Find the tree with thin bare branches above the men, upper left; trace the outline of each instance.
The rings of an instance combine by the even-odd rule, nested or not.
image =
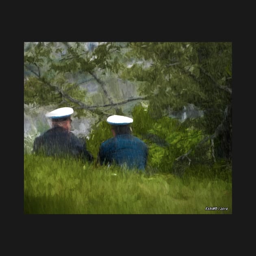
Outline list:
[[[78,116],[90,112],[100,117],[107,115],[102,108],[116,107],[140,98],[114,103],[101,79],[108,70],[117,72],[122,66],[119,43],[101,43],[97,47],[86,47],[84,43],[39,42],[24,44],[24,103],[40,105],[56,104],[72,106]],[[95,79],[104,93],[105,104],[85,104],[86,91],[68,78],[78,73],[86,74],[87,80]]]

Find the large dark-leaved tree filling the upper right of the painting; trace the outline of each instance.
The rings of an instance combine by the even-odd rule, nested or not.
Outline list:
[[[194,104],[204,111],[200,121],[188,119],[184,126],[202,129],[214,159],[231,161],[232,142],[232,44],[230,42],[131,42],[127,56],[152,65],[134,64],[121,77],[143,81],[141,93],[150,100],[149,113],[160,119],[170,111]],[[191,150],[177,160],[188,158]],[[189,161],[190,163],[190,161]]]

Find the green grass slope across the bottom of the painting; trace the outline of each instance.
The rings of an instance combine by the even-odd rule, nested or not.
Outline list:
[[[231,171],[208,173],[194,168],[179,178],[24,155],[24,213],[231,214]],[[206,206],[228,210],[206,211]]]

